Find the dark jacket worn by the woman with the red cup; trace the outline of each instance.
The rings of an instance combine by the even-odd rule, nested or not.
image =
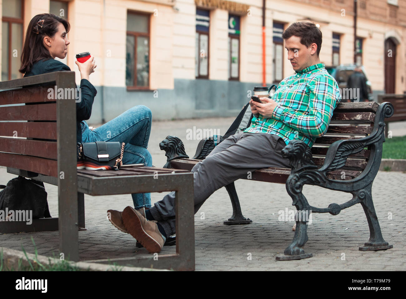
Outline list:
[[[32,65],[31,71],[25,73],[24,77],[41,75],[57,71],[70,71],[71,69],[65,63],[55,59],[40,60]],[[76,103],[76,140],[82,142],[82,129],[80,122],[88,120],[92,113],[93,100],[97,94],[95,87],[86,79],[80,80],[80,92],[82,99]]]

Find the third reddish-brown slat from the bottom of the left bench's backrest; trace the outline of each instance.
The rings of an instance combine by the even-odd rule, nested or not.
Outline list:
[[[56,140],[56,122],[0,122],[0,136]]]

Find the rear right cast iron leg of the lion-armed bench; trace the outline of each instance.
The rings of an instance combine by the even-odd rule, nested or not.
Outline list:
[[[376,216],[374,203],[372,202],[371,188],[372,183],[364,189],[354,192],[354,195],[361,199],[361,205],[367,216],[369,226],[369,240],[364,244],[365,246],[359,247],[359,250],[385,250],[393,248],[393,245],[389,245],[389,243],[382,238],[378,217]]]

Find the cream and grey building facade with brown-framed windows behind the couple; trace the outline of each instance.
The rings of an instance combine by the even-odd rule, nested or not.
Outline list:
[[[21,77],[26,28],[44,12],[71,24],[64,59],[71,70],[77,53],[96,59],[91,123],[135,105],[154,119],[235,116],[262,85],[263,63],[268,86],[294,73],[281,36],[297,21],[320,26],[322,63],[354,61],[353,0],[265,2],[263,47],[262,0],[0,0],[1,79]],[[356,60],[374,95],[404,93],[406,0],[358,0],[357,9]]]

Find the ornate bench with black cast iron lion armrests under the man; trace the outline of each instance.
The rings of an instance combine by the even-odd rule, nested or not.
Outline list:
[[[384,118],[392,115],[391,103],[380,105],[375,102],[340,103],[333,113],[326,134],[317,138],[311,149],[300,140],[289,142],[283,149],[282,153],[284,157],[289,158],[292,169],[264,168],[253,172],[251,178],[244,179],[286,184],[287,192],[293,200],[292,205],[305,213],[337,215],[342,209],[361,203],[367,216],[370,238],[359,250],[392,248],[392,245],[382,238],[371,196],[371,186],[379,169],[382,142],[385,140]],[[167,139],[172,137],[174,136],[168,136]],[[175,148],[177,150],[171,152],[166,150],[168,157],[166,166],[190,171],[201,161],[188,159],[183,143],[180,142]],[[195,157],[202,157],[201,153],[204,153],[202,157],[204,159],[213,148],[213,140],[206,140]],[[304,184],[349,192],[353,194],[353,198],[342,204],[331,203],[324,208],[313,207],[302,194]],[[251,219],[242,216],[234,183],[227,185],[226,189],[233,206],[233,215],[224,224],[251,223]],[[276,257],[276,260],[312,256],[303,250],[308,240],[306,223],[307,221],[296,221],[292,244],[285,249],[285,255]]]

